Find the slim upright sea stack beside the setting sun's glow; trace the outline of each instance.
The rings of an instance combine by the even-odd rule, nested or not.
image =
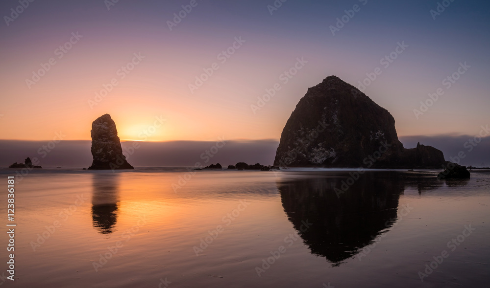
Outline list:
[[[123,155],[116,123],[111,115],[105,114],[92,122],[92,156],[94,161],[89,170],[134,169]]]

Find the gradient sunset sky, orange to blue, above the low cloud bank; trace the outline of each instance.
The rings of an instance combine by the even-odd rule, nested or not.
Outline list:
[[[168,22],[191,0],[119,0],[109,9],[107,2],[38,0],[23,9],[18,0],[1,2],[0,139],[62,132],[64,140],[88,140],[92,121],[105,113],[123,140],[143,140],[156,117],[166,121],[150,141],[279,139],[309,87],[330,75],[358,87],[377,67],[382,73],[364,92],[392,113],[399,136],[476,135],[490,124],[488,1],[439,1],[450,5],[434,19],[437,0],[287,0],[272,13],[273,0],[196,0],[172,30]],[[333,35],[330,26],[356,4],[360,10]],[[23,11],[14,19],[12,8]],[[66,53],[57,50],[76,41],[72,33],[83,37]],[[240,37],[245,43],[222,63],[221,51]],[[380,64],[397,43],[408,47],[390,66]],[[118,70],[134,53],[144,58],[121,79]],[[50,58],[49,71],[26,84]],[[284,83],[281,74],[297,58],[307,63]],[[465,62],[465,74],[443,85]],[[219,68],[191,92],[213,63]],[[91,107],[114,78],[117,86]],[[275,83],[282,88],[254,113],[250,105]],[[417,119],[414,109],[438,88],[444,94]]]

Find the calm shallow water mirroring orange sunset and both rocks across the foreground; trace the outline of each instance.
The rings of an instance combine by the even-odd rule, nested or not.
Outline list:
[[[436,174],[368,172],[337,195],[349,171],[203,171],[186,183],[168,169],[32,171],[16,183],[14,286],[489,287],[490,173]]]

